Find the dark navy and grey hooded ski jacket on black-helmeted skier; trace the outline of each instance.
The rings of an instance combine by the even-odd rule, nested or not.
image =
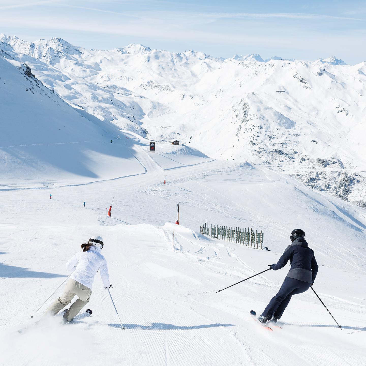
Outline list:
[[[292,244],[285,249],[279,261],[276,264],[273,264],[271,268],[275,271],[281,269],[289,260],[291,269],[287,273],[287,277],[314,283],[319,267],[315,260],[313,250],[307,246],[306,240],[301,236],[300,238],[295,239]]]

